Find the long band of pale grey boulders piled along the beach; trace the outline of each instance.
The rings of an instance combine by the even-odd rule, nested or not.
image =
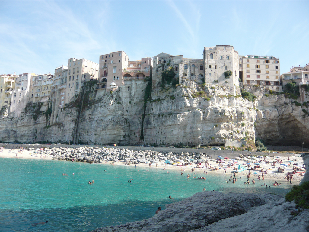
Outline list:
[[[92,147],[80,147],[80,148],[44,148],[39,151],[41,155],[51,155],[53,159],[57,160],[70,160],[70,161],[82,161],[82,162],[125,162],[126,164],[139,164],[139,163],[158,163],[165,162],[170,163],[197,163],[209,161],[212,156],[207,156],[204,153],[159,153],[156,151],[133,151],[129,149],[119,148],[92,148]],[[168,162],[167,162],[168,163]]]

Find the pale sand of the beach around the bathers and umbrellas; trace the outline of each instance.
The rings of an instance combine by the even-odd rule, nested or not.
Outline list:
[[[4,157],[4,158],[21,158],[21,159],[44,159],[44,160],[52,160],[52,156],[51,155],[47,155],[46,157],[41,156],[41,154],[36,153],[35,150],[33,151],[29,151],[29,150],[23,150],[22,152],[18,152],[19,149],[2,149],[2,151],[0,152],[0,157]],[[288,157],[281,157],[281,160],[284,164],[289,164],[288,162]],[[290,157],[290,159],[294,160],[294,162],[298,161],[300,163],[303,163],[303,159],[302,157]],[[271,163],[274,160],[269,160]],[[217,175],[225,175],[224,172],[226,170],[226,178],[229,179],[231,175],[233,175],[233,169],[234,167],[238,167],[239,164],[243,164],[246,161],[238,161],[237,163],[234,164],[234,166],[231,167],[227,167],[227,163],[223,164],[223,167],[220,168],[219,164],[216,163],[216,161],[210,161],[208,164],[208,168],[205,167],[205,163],[202,163],[202,165],[200,165],[199,167],[197,167],[197,164],[190,164],[190,165],[182,165],[182,166],[175,166],[175,165],[167,165],[164,164],[163,162],[159,162],[158,165],[156,166],[156,163],[153,163],[149,166],[149,164],[138,164],[137,167],[144,167],[144,168],[159,168],[159,169],[166,169],[166,170],[179,170],[179,172],[181,172],[181,170],[185,170],[183,171],[184,174],[186,173],[191,173],[191,169],[195,168],[194,173],[197,174],[198,177],[200,176],[205,176],[206,172],[207,175],[211,175],[211,174],[217,174]],[[115,165],[125,165],[124,162],[106,162],[103,164],[115,164]],[[256,170],[251,170],[251,177],[250,177],[250,183],[252,181],[252,179],[255,179],[257,181],[258,175],[260,175],[261,177],[261,170],[263,169],[263,171],[267,170],[267,174],[265,174],[264,172],[264,179],[271,179],[271,180],[276,180],[278,183],[280,182],[286,182],[286,175],[290,172],[292,173],[293,171],[293,167],[284,167],[282,165],[280,165],[280,163],[276,163],[275,167],[273,168],[271,166],[271,163],[269,164],[263,164],[261,165],[261,168],[258,168]],[[131,164],[129,166],[132,166],[132,168],[134,168],[135,165]],[[218,167],[218,170],[211,170],[211,168],[209,167]],[[251,164],[252,167],[256,166],[254,164]],[[284,168],[283,172],[278,172],[277,169],[278,167]],[[224,170],[224,169],[225,170]],[[251,167],[250,167],[251,168]],[[205,174],[204,174],[205,171]],[[306,170],[303,170],[302,172],[304,173]],[[248,174],[248,170],[244,170],[242,172],[239,172],[236,177],[238,176],[247,176]],[[298,184],[301,179],[303,178],[303,176],[299,176],[298,173],[295,173],[293,175],[293,184]],[[232,179],[232,178],[231,178]],[[246,179],[246,178],[245,178]]]

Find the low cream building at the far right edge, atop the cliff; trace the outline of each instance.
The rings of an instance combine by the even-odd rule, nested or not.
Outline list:
[[[297,85],[309,84],[309,64],[304,65],[303,67],[292,67],[290,72],[283,73],[281,75],[282,86],[290,82],[291,79],[296,81]]]

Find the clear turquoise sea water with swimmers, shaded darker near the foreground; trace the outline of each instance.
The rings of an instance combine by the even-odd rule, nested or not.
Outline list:
[[[183,200],[206,190],[285,194],[287,183],[266,189],[256,181],[236,184],[224,175],[192,178],[190,168],[180,171],[69,161],[0,159],[0,231],[89,231],[152,217],[158,206]],[[106,171],[104,171],[106,170]],[[138,171],[139,170],[139,171]],[[62,173],[68,175],[63,176]],[[74,175],[73,175],[74,173]],[[191,177],[187,181],[187,174]],[[119,176],[119,178],[118,178]],[[127,183],[132,179],[132,183]],[[95,183],[89,185],[88,181]],[[283,182],[283,181],[282,181]],[[174,200],[168,199],[171,195]],[[44,225],[33,223],[49,221]]]

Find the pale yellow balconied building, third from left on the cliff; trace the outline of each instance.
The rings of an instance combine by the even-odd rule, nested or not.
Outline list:
[[[43,74],[32,76],[29,88],[28,102],[44,102],[48,101],[53,84],[54,75]]]

